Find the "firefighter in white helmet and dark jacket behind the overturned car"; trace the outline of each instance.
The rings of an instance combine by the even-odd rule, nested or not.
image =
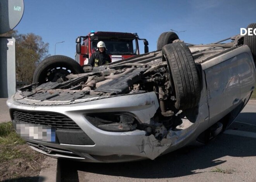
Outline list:
[[[105,65],[111,63],[111,58],[109,54],[106,53],[106,45],[103,41],[99,41],[97,44],[97,51],[92,54],[89,59],[88,64],[93,67]]]

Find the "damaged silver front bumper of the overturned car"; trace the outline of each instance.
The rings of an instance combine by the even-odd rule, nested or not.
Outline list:
[[[17,93],[16,93],[17,94]],[[157,140],[154,135],[146,136],[145,131],[109,132],[96,128],[84,117],[85,114],[99,112],[129,112],[142,123],[150,123],[159,104],[154,92],[122,95],[106,99],[78,102],[66,105],[28,105],[19,102],[15,95],[7,100],[10,111],[13,109],[34,112],[55,112],[72,119],[81,130],[95,143],[94,145],[71,145],[52,143],[22,137],[36,151],[54,158],[69,158],[84,162],[126,162],[154,159],[157,156],[180,148],[196,138],[200,122],[195,122],[187,129],[169,131],[166,138]],[[13,120],[16,125],[16,121]],[[18,133],[21,134],[21,133]],[[199,134],[199,133],[198,133]],[[198,135],[197,134],[197,135]],[[190,137],[189,137],[190,136]]]

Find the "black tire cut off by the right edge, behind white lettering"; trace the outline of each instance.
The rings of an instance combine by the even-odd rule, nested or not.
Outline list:
[[[247,26],[247,30],[248,28],[253,28],[253,30],[256,29],[256,23],[249,24]],[[251,49],[254,64],[256,66],[256,35],[253,34],[252,36],[249,36],[248,34],[246,34],[244,36],[244,45],[247,45]]]

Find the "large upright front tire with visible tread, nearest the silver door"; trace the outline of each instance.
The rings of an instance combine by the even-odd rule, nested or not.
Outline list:
[[[188,46],[180,42],[167,44],[162,54],[168,64],[175,108],[185,110],[197,106],[201,95],[200,76]]]

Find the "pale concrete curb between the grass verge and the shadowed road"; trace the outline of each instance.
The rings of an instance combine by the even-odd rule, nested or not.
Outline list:
[[[61,182],[61,170],[56,158],[46,157],[41,167],[38,182]]]

